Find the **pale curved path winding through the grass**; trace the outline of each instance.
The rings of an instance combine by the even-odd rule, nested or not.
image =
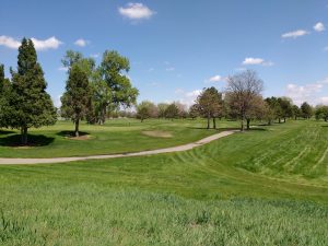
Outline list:
[[[179,147],[171,147],[171,148],[165,148],[165,149],[125,153],[125,154],[103,154],[103,155],[75,156],[75,157],[54,157],[54,159],[1,159],[0,157],[0,165],[63,163],[63,162],[74,162],[74,161],[85,161],[85,160],[96,160],[96,159],[117,159],[117,157],[127,157],[127,156],[140,156],[140,155],[152,155],[152,154],[180,152],[180,151],[191,150],[196,147],[200,147],[206,143],[212,142],[216,139],[233,134],[236,131],[238,131],[238,130],[222,131],[220,133],[212,134],[210,137],[201,139],[197,142],[187,143],[187,144],[179,145]]]

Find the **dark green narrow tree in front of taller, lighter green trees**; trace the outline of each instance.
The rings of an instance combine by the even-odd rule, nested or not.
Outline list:
[[[86,116],[91,96],[87,74],[78,63],[73,65],[69,69],[66,92],[61,96],[61,114],[74,122],[75,137],[79,137],[80,120]]]

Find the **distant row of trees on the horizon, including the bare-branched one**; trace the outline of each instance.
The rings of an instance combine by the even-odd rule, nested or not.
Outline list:
[[[313,108],[304,102],[301,107],[294,105],[289,97],[262,97],[263,82],[253,70],[246,70],[227,78],[226,90],[221,93],[215,87],[206,87],[198,95],[195,104],[187,108],[179,103],[159,104],[144,101],[137,106],[137,118],[197,118],[207,119],[207,128],[215,129],[216,119],[227,118],[241,120],[241,130],[249,129],[253,120],[274,120],[285,122],[288,118],[308,119],[314,112],[316,118],[328,120],[328,106]],[[169,108],[168,108],[169,106]],[[164,110],[163,110],[164,108]],[[175,109],[174,109],[175,108]],[[168,110],[167,110],[168,109]],[[166,113],[169,112],[171,114]]]

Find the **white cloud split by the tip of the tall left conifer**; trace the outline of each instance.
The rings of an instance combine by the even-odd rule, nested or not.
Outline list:
[[[57,49],[62,42],[58,40],[55,36],[48,39],[40,40],[35,37],[31,38],[36,50]],[[21,42],[9,36],[0,36],[0,45],[8,48],[17,49],[21,46]]]

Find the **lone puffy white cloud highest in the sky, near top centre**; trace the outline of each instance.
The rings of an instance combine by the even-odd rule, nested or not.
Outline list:
[[[152,15],[155,14],[155,12],[149,9],[147,5],[138,2],[130,2],[126,7],[119,7],[118,12],[122,16],[128,17],[130,20],[150,19]]]

